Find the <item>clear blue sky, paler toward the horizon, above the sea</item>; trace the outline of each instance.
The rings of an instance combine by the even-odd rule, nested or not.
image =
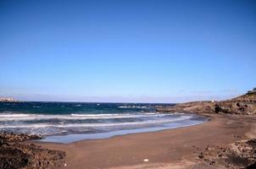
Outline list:
[[[0,95],[181,102],[256,87],[256,1],[0,1]]]

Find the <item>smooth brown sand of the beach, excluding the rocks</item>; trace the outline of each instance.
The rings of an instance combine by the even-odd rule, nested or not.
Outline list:
[[[82,140],[71,144],[36,144],[48,149],[64,150],[67,166],[63,168],[69,169],[215,168],[198,158],[197,149],[203,150],[208,145],[228,147],[237,140],[255,138],[253,123],[256,123],[256,117],[210,117],[212,120],[207,123],[186,128]]]

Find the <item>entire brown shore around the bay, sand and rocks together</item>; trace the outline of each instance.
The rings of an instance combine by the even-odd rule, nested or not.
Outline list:
[[[41,143],[31,141],[40,139],[36,135],[1,133],[0,168],[256,168],[255,93],[156,109],[197,113],[212,120],[71,144]]]

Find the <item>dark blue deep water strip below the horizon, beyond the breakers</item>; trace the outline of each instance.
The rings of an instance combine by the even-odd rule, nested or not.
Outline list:
[[[0,102],[0,112],[36,114],[152,112],[159,104],[81,102]]]

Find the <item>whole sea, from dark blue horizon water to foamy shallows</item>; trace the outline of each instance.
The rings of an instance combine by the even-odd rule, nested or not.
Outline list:
[[[207,120],[182,112],[159,113],[157,105],[161,104],[0,102],[0,131],[38,134],[45,141],[67,143],[179,128]]]

